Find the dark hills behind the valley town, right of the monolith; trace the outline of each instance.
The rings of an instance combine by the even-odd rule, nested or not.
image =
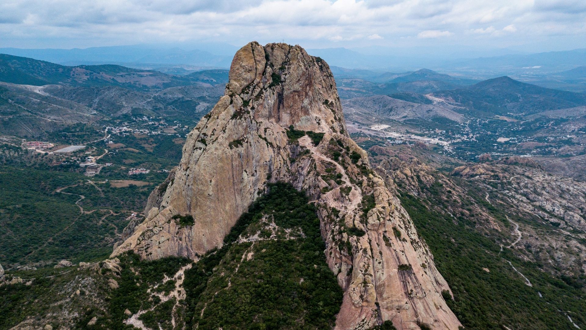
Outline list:
[[[338,89],[340,95],[346,96],[343,97],[344,112],[350,122],[362,126],[400,122],[399,126],[393,124],[395,129],[405,127],[406,124],[415,129],[435,129],[454,127],[466,119],[474,118],[518,120],[539,116],[578,117],[584,115],[586,108],[586,95],[582,93],[548,89],[507,76],[466,86],[454,85],[456,82],[468,82],[466,80],[454,79],[431,70],[387,76],[393,83],[340,79]],[[441,80],[409,81],[417,78]],[[397,83],[397,80],[406,82]],[[449,86],[449,89],[442,89],[444,86]],[[444,124],[448,126],[442,126]]]

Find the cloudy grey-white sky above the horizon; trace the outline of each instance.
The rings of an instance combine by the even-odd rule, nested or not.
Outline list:
[[[585,0],[2,0],[0,47],[586,48]]]

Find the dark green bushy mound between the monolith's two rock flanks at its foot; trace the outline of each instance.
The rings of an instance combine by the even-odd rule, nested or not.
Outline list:
[[[281,228],[301,228],[305,238],[233,243],[240,234],[253,234],[266,214]],[[186,272],[188,323],[198,329],[331,328],[342,291],[324,249],[319,220],[304,194],[289,184],[272,184],[240,217],[224,246]],[[250,260],[243,258],[249,253]]]

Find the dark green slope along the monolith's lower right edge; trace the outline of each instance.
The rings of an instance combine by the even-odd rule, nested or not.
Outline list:
[[[401,204],[430,246],[435,265],[454,293],[448,306],[465,328],[575,329],[558,309],[570,311],[579,326],[586,325],[581,289],[548,275],[532,262],[519,260],[508,249],[501,252],[498,244],[476,230],[473,217],[454,221],[408,193],[401,193]],[[533,287],[525,285],[505,260],[530,278]]]

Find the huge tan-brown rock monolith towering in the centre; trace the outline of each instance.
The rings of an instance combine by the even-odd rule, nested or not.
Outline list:
[[[289,140],[289,127],[323,138],[309,132]],[[326,260],[345,291],[336,329],[368,329],[387,319],[397,329],[458,329],[427,245],[346,133],[329,66],[301,47],[241,48],[225,95],[189,133],[172,176],[113,255],[197,260],[222,244],[268,182],[287,181],[318,208]],[[192,215],[193,225],[174,215]]]

